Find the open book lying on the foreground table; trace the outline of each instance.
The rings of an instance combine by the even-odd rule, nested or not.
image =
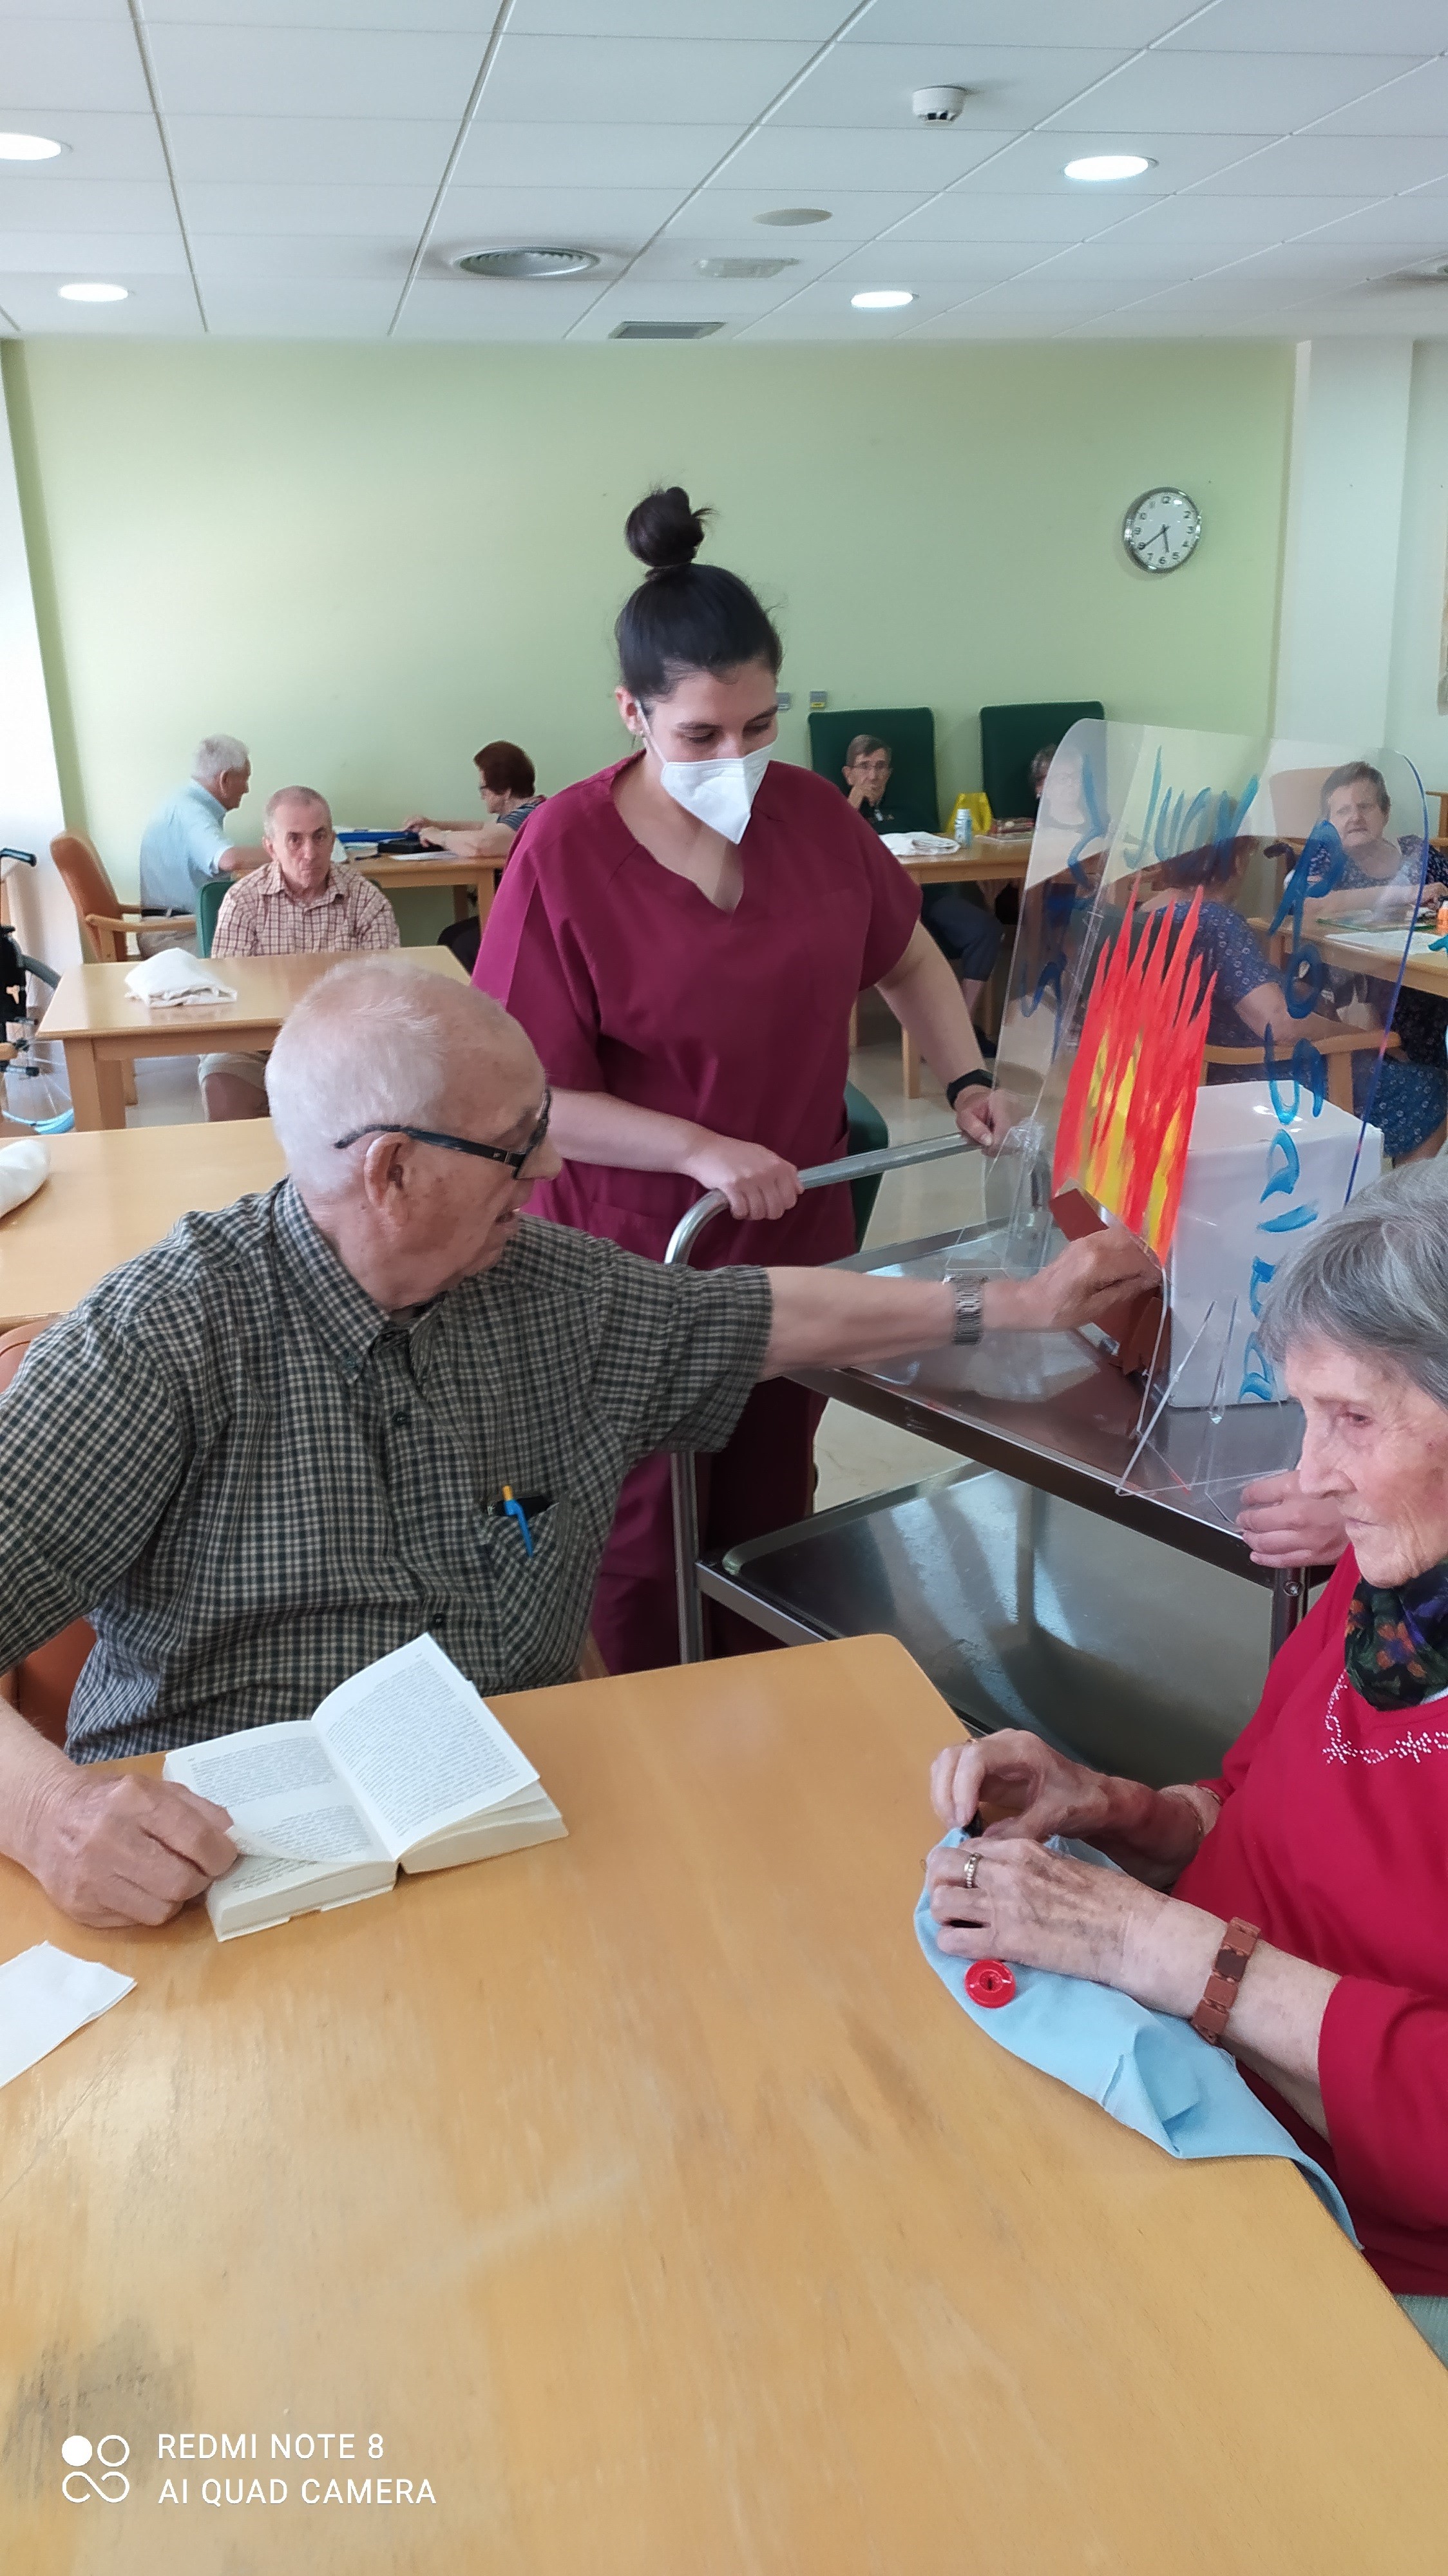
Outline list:
[[[332,1690],[309,1718],[186,1744],[162,1765],[232,1816],[240,1860],[206,1891],[216,1940],[384,1896],[405,1870],[567,1834],[538,1772],[430,1636]]]

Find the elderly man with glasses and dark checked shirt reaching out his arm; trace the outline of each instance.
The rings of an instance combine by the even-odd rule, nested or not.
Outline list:
[[[113,1270],[0,1399],[0,1672],[95,1623],[64,1752],[0,1703],[0,1850],[88,1924],[234,1860],[222,1808],[93,1762],[307,1718],[420,1631],[484,1692],[564,1682],[639,1458],[721,1448],[760,1376],[1085,1321],[1147,1275],[1116,1229],[982,1288],[665,1270],[526,1218],[541,1064],[410,966],[327,974],[268,1095],[289,1180]]]

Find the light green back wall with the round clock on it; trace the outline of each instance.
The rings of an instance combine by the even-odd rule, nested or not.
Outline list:
[[[654,482],[716,505],[716,559],[786,636],[804,703],[930,703],[940,786],[979,781],[976,708],[1268,721],[1291,353],[5,348],[21,495],[75,824],[119,886],[198,734],[242,734],[250,804],[464,814],[469,755],[523,742],[554,788],[621,750],[624,515]],[[1152,580],[1121,515],[1203,507]]]

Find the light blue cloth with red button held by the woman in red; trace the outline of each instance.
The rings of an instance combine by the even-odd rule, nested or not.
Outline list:
[[[946,1834],[948,1844],[961,1839]],[[1105,1852],[1085,1842],[1056,1839],[1051,1850],[1092,1860],[1103,1870],[1116,1868]],[[1013,1965],[1010,2004],[971,2004],[964,1986],[971,1963],[938,1947],[925,1888],[915,1906],[915,1932],[956,2004],[1013,2058],[1025,2058],[1072,2092],[1100,2102],[1123,2128],[1165,2146],[1167,2156],[1291,2156],[1342,2233],[1358,2244],[1337,2184],[1257,2102],[1226,2050],[1208,2048],[1188,2022],[1177,2022],[1170,2012],[1149,2012],[1116,1986],[1056,1976],[1051,1968]]]

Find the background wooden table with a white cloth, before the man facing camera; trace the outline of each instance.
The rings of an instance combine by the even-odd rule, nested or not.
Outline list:
[[[381,948],[368,956],[399,958],[428,974],[466,984],[448,948]],[[41,1020],[44,1038],[64,1046],[64,1072],[77,1128],[119,1128],[126,1123],[121,1066],[134,1056],[206,1056],[271,1046],[286,1012],[312,992],[343,958],[214,958],[216,979],[229,984],[234,1002],[147,1005],[126,992],[134,966],[67,966]]]

